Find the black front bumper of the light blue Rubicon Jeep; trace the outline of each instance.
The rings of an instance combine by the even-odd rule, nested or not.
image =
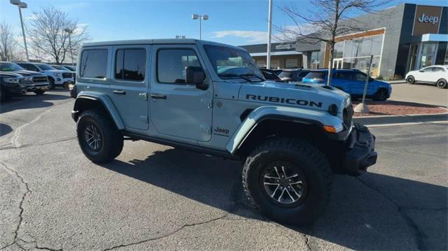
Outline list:
[[[377,163],[377,152],[375,149],[375,136],[367,127],[355,123],[349,138],[347,138],[345,153],[345,171],[349,175],[360,175],[367,167]]]

